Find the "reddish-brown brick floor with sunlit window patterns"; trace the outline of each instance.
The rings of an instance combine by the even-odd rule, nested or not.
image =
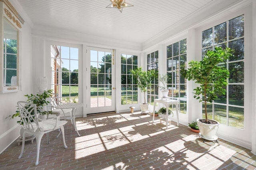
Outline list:
[[[12,143],[0,154],[0,170],[255,170],[250,150],[219,139],[203,140],[198,133],[172,121],[168,129],[156,117],[135,113],[111,113],[77,118],[65,125],[67,149],[58,131],[43,137],[38,166],[36,140],[21,146]]]

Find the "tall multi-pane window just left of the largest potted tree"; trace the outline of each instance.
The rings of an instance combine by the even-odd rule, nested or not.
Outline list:
[[[186,67],[187,61],[187,40],[183,39],[174,44],[168,45],[167,50],[167,86],[168,96],[172,100],[179,101],[180,113],[186,113],[186,82],[180,74],[182,67]]]

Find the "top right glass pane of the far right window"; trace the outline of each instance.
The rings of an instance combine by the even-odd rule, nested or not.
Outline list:
[[[244,36],[244,15],[229,20],[229,39],[234,39]]]

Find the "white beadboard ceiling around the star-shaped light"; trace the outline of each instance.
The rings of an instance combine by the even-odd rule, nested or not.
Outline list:
[[[218,1],[126,0],[134,6],[120,13],[106,8],[109,0],[18,0],[35,26],[134,43],[143,43]]]

